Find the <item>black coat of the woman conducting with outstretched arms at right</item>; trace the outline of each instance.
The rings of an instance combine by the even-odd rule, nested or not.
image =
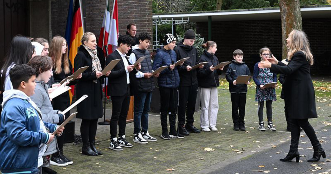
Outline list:
[[[317,118],[315,91],[310,77],[310,65],[306,55],[296,52],[289,64],[271,65],[273,73],[285,74],[282,92],[291,119]]]

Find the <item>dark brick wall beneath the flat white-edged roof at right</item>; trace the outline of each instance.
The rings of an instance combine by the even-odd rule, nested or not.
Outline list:
[[[208,39],[208,22],[196,23],[197,33]],[[307,33],[314,58],[331,50],[331,18],[303,19],[303,30]],[[280,20],[263,21],[224,21],[212,22],[212,40],[217,43],[216,56],[219,61],[233,60],[235,49],[244,52],[244,62],[253,71],[255,63],[260,61],[259,50],[267,46],[277,57],[282,55],[282,34]],[[331,55],[330,55],[331,56]],[[317,71],[319,69],[319,71]],[[324,66],[311,67],[311,72],[326,74]]]

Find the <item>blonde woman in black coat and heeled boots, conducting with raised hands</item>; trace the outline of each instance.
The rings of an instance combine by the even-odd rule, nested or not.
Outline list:
[[[310,77],[313,56],[310,52],[307,35],[303,31],[293,30],[286,41],[286,46],[289,48],[287,66],[275,57],[259,63],[259,68],[269,67],[273,73],[286,75],[282,92],[284,92],[285,106],[288,106],[286,109],[291,119],[291,146],[286,157],[280,161],[290,162],[296,158],[296,162],[299,162],[298,144],[300,127],[302,127],[314,148],[313,157],[308,159],[308,162],[316,162],[321,156],[325,158],[326,155],[316,137],[314,128],[308,122],[308,118],[317,117],[315,91]]]

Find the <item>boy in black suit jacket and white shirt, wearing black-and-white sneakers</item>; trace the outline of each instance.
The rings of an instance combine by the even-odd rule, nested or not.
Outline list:
[[[118,36],[118,48],[107,57],[106,65],[112,60],[121,59],[112,69],[108,76],[107,93],[110,95],[113,104],[113,113],[110,120],[109,148],[114,151],[123,151],[122,147],[131,148],[133,145],[125,139],[126,116],[129,110],[132,85],[135,82],[135,74],[140,70],[141,65],[131,65],[126,55],[130,50],[132,39],[128,35]],[[130,90],[130,87],[132,88]],[[118,138],[117,138],[118,124]]]

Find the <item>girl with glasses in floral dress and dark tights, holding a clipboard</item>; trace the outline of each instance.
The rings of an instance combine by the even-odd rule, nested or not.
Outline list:
[[[268,58],[271,55],[269,48],[260,49],[261,62],[264,58]],[[271,55],[273,57],[273,55]],[[254,66],[253,80],[256,84],[255,101],[259,103],[258,115],[259,115],[259,130],[265,131],[263,122],[263,106],[265,101],[265,107],[267,110],[268,126],[270,131],[276,131],[276,128],[272,125],[272,101],[276,101],[276,85],[271,88],[264,88],[264,85],[271,82],[277,82],[277,74],[270,72],[270,68],[259,68],[258,63]]]

